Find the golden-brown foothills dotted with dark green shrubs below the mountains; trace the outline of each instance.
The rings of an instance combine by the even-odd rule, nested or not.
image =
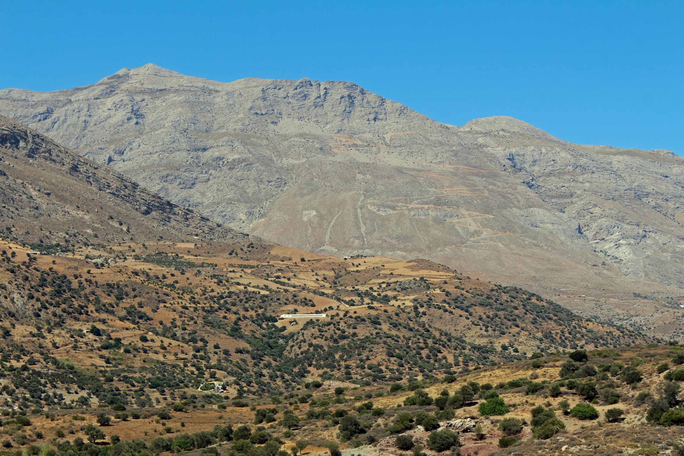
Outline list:
[[[601,416],[668,439],[681,424],[677,343],[517,287],[118,224],[41,249],[51,218],[0,239],[3,456],[486,454],[574,442]]]

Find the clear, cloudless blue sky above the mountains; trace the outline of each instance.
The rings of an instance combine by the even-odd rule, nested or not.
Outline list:
[[[218,81],[347,80],[450,124],[506,115],[684,154],[684,2],[421,3],[0,0],[0,88],[150,62]]]

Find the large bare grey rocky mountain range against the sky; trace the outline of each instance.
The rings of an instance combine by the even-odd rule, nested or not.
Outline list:
[[[149,64],[0,90],[0,113],[276,243],[430,258],[681,326],[684,159],[666,150],[570,144],[508,117],[442,124],[349,82],[219,83]]]

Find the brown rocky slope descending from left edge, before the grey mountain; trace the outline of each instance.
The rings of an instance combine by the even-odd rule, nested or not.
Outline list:
[[[38,249],[81,243],[247,239],[0,117],[3,237]]]

